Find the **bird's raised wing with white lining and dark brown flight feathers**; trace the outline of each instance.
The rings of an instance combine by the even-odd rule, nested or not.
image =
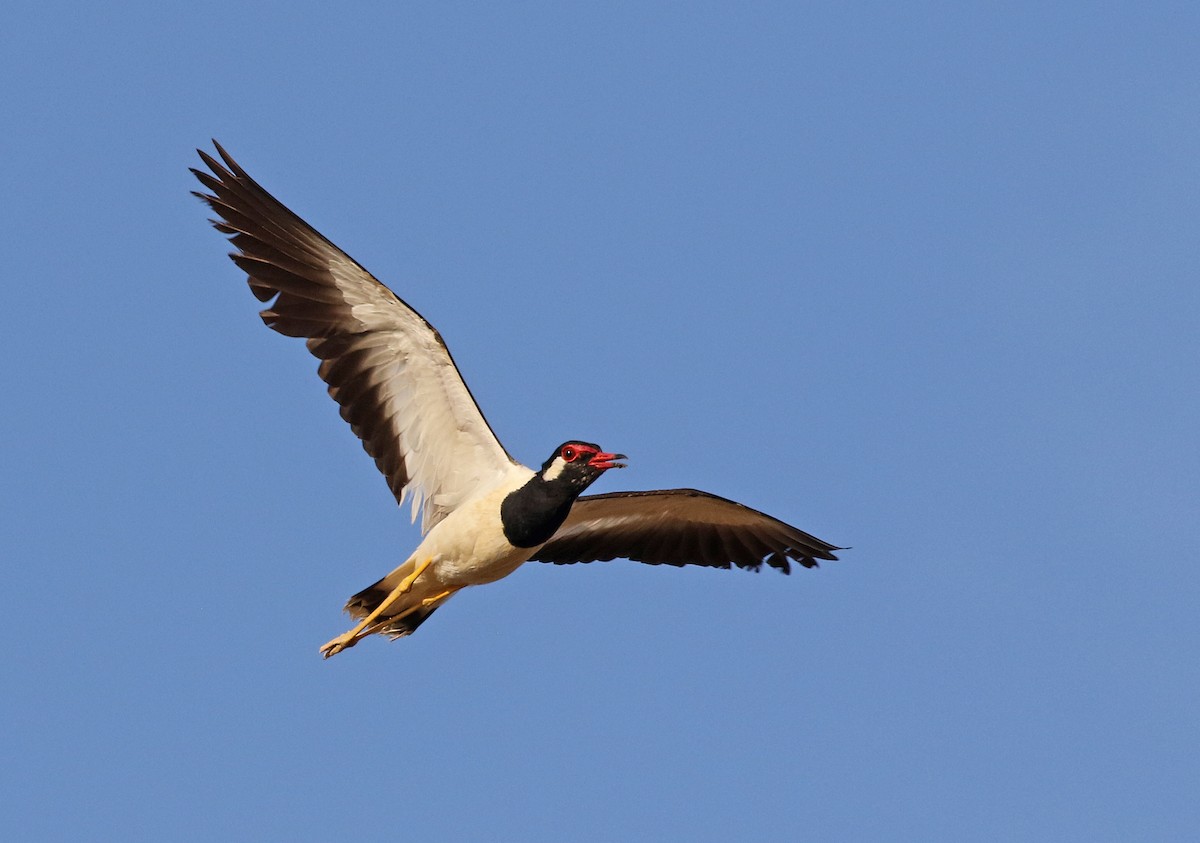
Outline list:
[[[307,340],[317,371],[388,486],[428,531],[515,465],[437,330],[346,252],[263,190],[220,144],[192,169],[250,276],[263,322]],[[271,301],[274,299],[274,301]]]

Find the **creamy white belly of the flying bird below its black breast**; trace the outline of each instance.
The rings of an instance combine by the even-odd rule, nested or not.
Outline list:
[[[413,554],[420,563],[432,558],[431,572],[448,586],[482,585],[508,576],[538,548],[514,548],[504,538],[500,502],[533,477],[520,468],[491,492],[454,510],[428,532]]]

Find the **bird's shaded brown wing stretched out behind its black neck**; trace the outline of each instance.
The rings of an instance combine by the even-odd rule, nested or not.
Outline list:
[[[607,562],[749,568],[785,574],[842,550],[750,507],[695,489],[588,495],[534,554],[539,562]]]

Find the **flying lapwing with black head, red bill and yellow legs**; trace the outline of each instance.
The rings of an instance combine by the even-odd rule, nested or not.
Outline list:
[[[791,572],[844,550],[750,507],[695,489],[583,495],[624,454],[583,440],[536,470],[500,444],[442,335],[349,255],[254,181],[212,140],[190,168],[208,192],[229,257],[246,273],[259,316],[301,337],[342,418],[410,503],[421,540],[344,610],[358,623],[322,645],[330,658],[373,634],[412,634],[454,594],[528,561],[628,558],[647,564]]]

